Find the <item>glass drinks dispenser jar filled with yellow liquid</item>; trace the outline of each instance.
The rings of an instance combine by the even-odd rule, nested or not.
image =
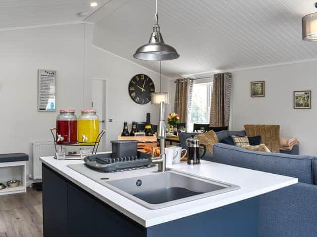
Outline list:
[[[99,117],[96,110],[82,110],[78,118],[79,144],[95,143],[99,135]],[[97,140],[99,142],[99,140]]]

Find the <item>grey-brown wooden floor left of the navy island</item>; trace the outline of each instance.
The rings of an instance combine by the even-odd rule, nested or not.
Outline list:
[[[0,237],[43,237],[42,192],[0,196]]]

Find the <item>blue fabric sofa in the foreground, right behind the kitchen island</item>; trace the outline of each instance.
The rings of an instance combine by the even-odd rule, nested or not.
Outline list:
[[[217,143],[214,162],[297,177],[260,197],[259,237],[317,237],[317,157],[264,153]]]

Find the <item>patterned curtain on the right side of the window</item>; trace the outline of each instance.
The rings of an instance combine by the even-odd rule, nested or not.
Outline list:
[[[211,95],[211,127],[229,126],[231,73],[213,75]]]

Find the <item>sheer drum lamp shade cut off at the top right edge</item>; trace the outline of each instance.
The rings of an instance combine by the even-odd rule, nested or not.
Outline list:
[[[303,40],[317,41],[317,12],[302,18]]]

